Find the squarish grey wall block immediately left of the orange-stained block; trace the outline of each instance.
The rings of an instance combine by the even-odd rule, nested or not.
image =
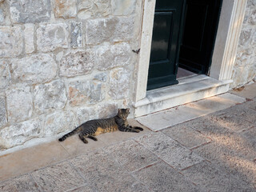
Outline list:
[[[55,80],[34,88],[34,108],[39,114],[66,105],[66,87],[62,80]]]

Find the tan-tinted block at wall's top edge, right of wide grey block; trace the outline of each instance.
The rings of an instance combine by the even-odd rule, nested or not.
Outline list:
[[[56,18],[74,18],[77,15],[76,0],[55,0]]]

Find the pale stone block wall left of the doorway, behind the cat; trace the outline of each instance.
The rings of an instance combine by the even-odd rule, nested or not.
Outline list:
[[[0,0],[0,150],[131,106],[141,4]]]

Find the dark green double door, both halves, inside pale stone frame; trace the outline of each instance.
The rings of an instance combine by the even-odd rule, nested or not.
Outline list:
[[[222,0],[156,0],[147,90],[177,84],[178,67],[207,74]]]

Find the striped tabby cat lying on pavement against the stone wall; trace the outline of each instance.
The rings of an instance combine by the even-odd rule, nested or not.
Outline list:
[[[127,122],[129,114],[129,109],[118,109],[118,114],[113,118],[94,119],[85,122],[70,133],[65,134],[62,138],[59,138],[58,141],[63,142],[71,135],[79,133],[79,138],[81,138],[82,142],[88,143],[86,138],[91,138],[94,141],[97,141],[98,139],[95,138],[95,136],[98,134],[104,134],[116,130],[138,133],[140,130],[143,130],[142,127],[129,126]]]

